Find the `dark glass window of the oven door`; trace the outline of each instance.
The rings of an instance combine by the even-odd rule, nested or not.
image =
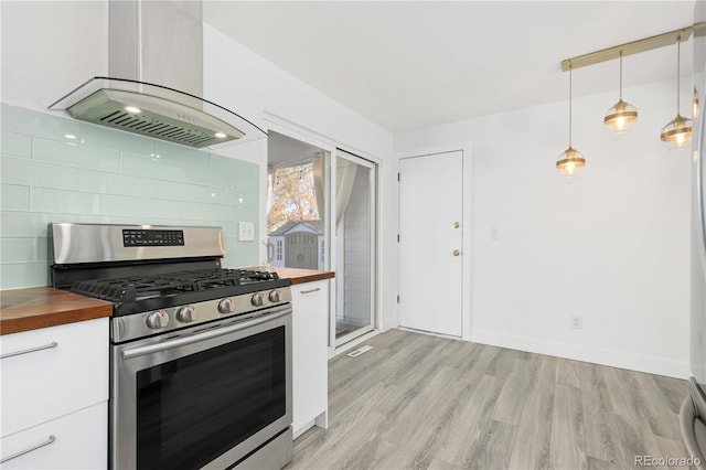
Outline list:
[[[199,468],[286,413],[285,327],[137,373],[138,468]]]

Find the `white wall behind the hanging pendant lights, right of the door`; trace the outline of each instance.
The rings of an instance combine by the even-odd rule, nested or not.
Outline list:
[[[395,137],[397,152],[473,142],[472,340],[687,376],[689,151],[659,140],[674,94],[674,82],[625,89],[640,118],[620,136],[602,125],[617,93],[575,99],[576,180],[554,168],[566,102]]]

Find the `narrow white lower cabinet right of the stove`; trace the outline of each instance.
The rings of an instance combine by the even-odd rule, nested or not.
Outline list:
[[[329,280],[298,284],[292,291],[293,434],[328,426]]]

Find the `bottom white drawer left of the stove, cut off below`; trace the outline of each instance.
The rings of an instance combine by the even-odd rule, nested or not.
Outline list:
[[[108,463],[108,404],[103,402],[6,436],[0,440],[0,448],[2,460],[18,456],[4,461],[3,470],[105,469]]]

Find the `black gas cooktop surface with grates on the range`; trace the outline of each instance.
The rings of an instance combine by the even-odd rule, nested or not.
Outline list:
[[[114,316],[164,309],[289,286],[277,273],[200,269],[74,282],[76,293],[114,303]]]

